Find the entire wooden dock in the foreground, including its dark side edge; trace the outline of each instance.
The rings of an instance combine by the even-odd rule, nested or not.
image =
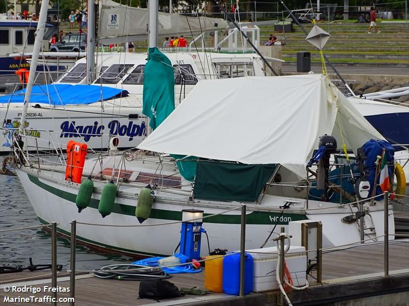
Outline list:
[[[379,295],[403,294],[407,305],[409,300],[409,240],[391,241],[390,276],[383,276],[383,244],[358,245],[353,248],[323,253],[323,284],[316,284],[311,277],[308,290],[291,292],[294,305],[331,304],[332,301],[371,298]],[[51,295],[51,293],[12,293],[5,292],[5,286],[51,286],[50,271],[19,272],[0,274],[0,304],[27,305],[28,303],[8,303],[5,296],[29,297]],[[277,292],[252,293],[244,298],[223,293],[209,293],[206,296],[186,295],[175,299],[165,299],[160,303],[151,299],[138,299],[139,282],[100,279],[93,274],[79,274],[76,277],[76,305],[276,305]],[[204,286],[204,273],[177,274],[169,279],[178,288]],[[69,276],[59,272],[58,286],[68,288]],[[58,293],[57,297],[69,297],[69,293]],[[402,298],[402,297],[400,297]],[[51,303],[32,302],[31,305]],[[368,303],[367,303],[368,304]],[[371,304],[373,304],[371,302]],[[400,305],[399,303],[390,303]],[[59,302],[58,305],[68,305]],[[388,305],[383,303],[382,305]]]

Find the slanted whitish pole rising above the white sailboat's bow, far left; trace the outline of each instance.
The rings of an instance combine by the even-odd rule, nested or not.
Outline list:
[[[47,21],[47,10],[48,10],[49,0],[42,0],[40,16],[38,18],[37,31],[35,33],[33,57],[30,65],[29,80],[27,81],[26,94],[24,96],[24,105],[22,109],[19,133],[21,134],[24,129],[24,122],[26,121],[27,108],[29,106],[29,100],[31,96],[31,90],[33,89],[33,83],[35,78],[35,71],[37,68],[38,57],[41,51],[42,39],[44,38],[44,31],[46,30]]]

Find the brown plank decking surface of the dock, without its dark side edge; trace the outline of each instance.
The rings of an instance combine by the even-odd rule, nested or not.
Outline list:
[[[390,271],[409,269],[409,241],[408,240],[395,240],[390,243]],[[383,244],[377,245],[363,245],[359,247],[354,247],[350,249],[337,250],[332,252],[326,252],[323,254],[323,279],[325,280],[340,278],[340,277],[350,277],[356,275],[363,275],[375,272],[383,271]],[[14,273],[11,277],[10,275],[4,277],[7,274],[0,274],[0,282],[8,281],[12,282],[12,279],[29,277],[30,273],[33,277],[35,274],[46,272],[20,272]],[[78,276],[81,277],[82,275]],[[169,279],[170,282],[174,283],[178,288],[180,287],[194,287],[198,286],[203,288],[204,286],[204,273],[195,274],[177,274],[173,275]],[[41,281],[37,281],[41,282]],[[44,282],[44,281],[42,281]],[[37,285],[51,286],[49,284]],[[69,281],[58,282],[58,286],[68,288],[70,285]],[[0,288],[5,286],[5,284],[0,285]],[[149,303],[154,303],[151,299],[138,299],[139,282],[133,281],[117,281],[113,279],[100,279],[96,277],[81,278],[76,281],[76,304],[77,305],[104,305],[104,306],[117,306],[117,305],[144,305]],[[51,293],[5,293],[4,290],[0,290],[0,300],[2,305],[27,305],[27,303],[4,303],[5,296],[10,297],[29,297],[37,296],[42,297],[43,295],[51,295]],[[69,293],[58,293],[57,297],[69,297]],[[172,299],[171,301],[187,299],[192,301],[194,296],[185,296],[177,299]],[[225,297],[224,294],[210,293],[208,298],[220,298]],[[163,300],[167,301],[167,300]],[[188,301],[188,300],[186,300]],[[199,301],[199,300],[198,300]],[[42,302],[33,302],[31,305],[44,305]],[[45,303],[47,304],[47,303]],[[58,305],[68,305],[68,303],[58,303]]]

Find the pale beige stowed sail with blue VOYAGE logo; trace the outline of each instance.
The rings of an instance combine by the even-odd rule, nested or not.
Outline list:
[[[187,17],[179,14],[158,13],[159,37],[197,34],[229,28],[221,18]],[[192,31],[192,32],[191,32]],[[133,8],[111,0],[100,1],[98,39],[102,44],[146,40],[148,10]]]

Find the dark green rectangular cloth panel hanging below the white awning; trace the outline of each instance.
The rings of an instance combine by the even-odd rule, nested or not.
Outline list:
[[[194,198],[245,202],[257,201],[277,167],[202,160],[196,165]]]

